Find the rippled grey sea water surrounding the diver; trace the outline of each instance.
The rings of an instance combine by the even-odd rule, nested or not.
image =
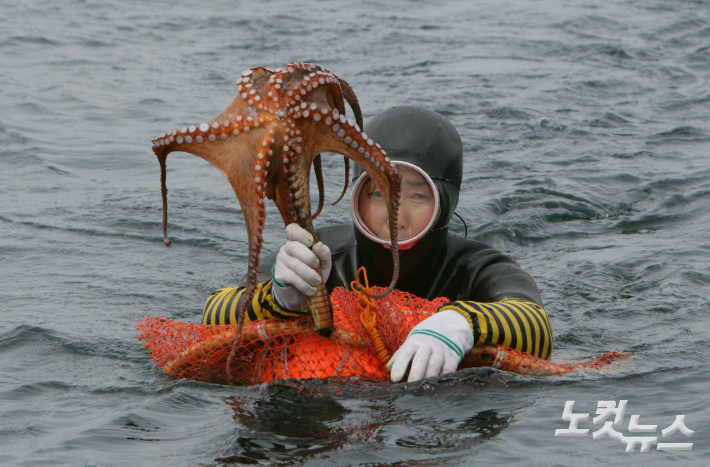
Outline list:
[[[464,141],[468,235],[536,279],[554,361],[417,384],[175,380],[144,316],[197,322],[246,271],[241,210],[207,162],[151,139],[205,121],[253,66],[321,64],[365,120],[446,115]],[[704,466],[710,463],[710,2],[0,3],[0,465]],[[326,200],[342,188],[324,158]],[[347,202],[318,225],[349,221]],[[454,220],[455,232],[464,226]],[[270,203],[265,251],[285,235]],[[600,401],[624,436],[593,439]],[[589,418],[568,428],[566,401]],[[631,415],[653,433],[629,431]],[[685,415],[691,437],[661,430]]]

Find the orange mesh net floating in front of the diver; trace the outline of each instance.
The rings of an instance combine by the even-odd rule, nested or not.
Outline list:
[[[371,292],[384,290],[372,287]],[[311,329],[308,317],[245,324],[242,342],[231,362],[231,379],[226,362],[236,326],[208,326],[153,316],[138,321],[136,330],[153,361],[177,378],[233,385],[288,378],[387,378],[378,353],[386,362],[387,353],[393,354],[415,325],[448,302],[443,297],[430,301],[398,290],[377,301],[367,302],[363,297],[367,299],[342,287],[333,291],[334,331],[328,338]],[[369,310],[369,318],[364,319],[368,327],[373,327],[369,323],[375,320],[384,349],[372,343],[361,322],[363,309]],[[559,375],[599,369],[627,355],[608,352],[585,364],[553,363],[500,345],[484,345],[474,347],[459,369],[490,366],[524,375]]]

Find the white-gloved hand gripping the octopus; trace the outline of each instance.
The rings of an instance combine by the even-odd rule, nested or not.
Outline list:
[[[271,294],[281,307],[297,311],[306,308],[308,297],[328,279],[332,261],[330,248],[322,242],[314,245],[313,236],[300,225],[287,225],[286,237],[288,241],[279,250],[271,269]],[[322,279],[316,271],[318,266],[323,272]]]

